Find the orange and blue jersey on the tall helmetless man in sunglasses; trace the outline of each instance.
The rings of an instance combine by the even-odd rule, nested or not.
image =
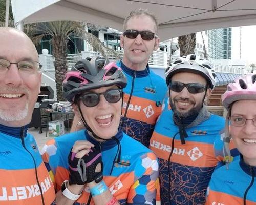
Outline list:
[[[167,91],[163,78],[150,71],[148,65],[143,71],[117,63],[127,78],[123,89],[122,131],[141,142],[150,144],[156,120],[161,113],[161,104]]]

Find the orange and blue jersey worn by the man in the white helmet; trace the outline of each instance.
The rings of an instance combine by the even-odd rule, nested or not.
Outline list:
[[[166,102],[165,104],[167,105]],[[217,163],[223,159],[216,155],[214,143],[224,127],[224,118],[205,112],[207,117],[203,121],[185,128],[188,135],[185,144],[181,144],[179,127],[174,124],[172,110],[163,109],[156,123],[150,149],[159,158],[161,204],[171,202],[173,205],[199,205],[205,202],[211,174]]]

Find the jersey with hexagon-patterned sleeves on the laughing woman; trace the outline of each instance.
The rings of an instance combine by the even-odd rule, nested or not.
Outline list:
[[[104,182],[120,204],[155,204],[158,178],[156,155],[121,131],[115,137],[121,146],[120,161],[125,163],[114,163],[112,170],[118,151],[117,142],[113,139],[101,142]],[[87,131],[81,130],[48,141],[42,150],[56,191],[60,190],[64,180],[69,179],[68,155],[77,140],[99,143]],[[74,204],[94,204],[90,198],[90,191],[86,187]]]

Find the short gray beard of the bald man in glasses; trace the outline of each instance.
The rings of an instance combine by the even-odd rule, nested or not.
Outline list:
[[[25,104],[25,107],[21,110],[17,110],[16,108],[8,109],[8,110],[0,110],[0,119],[3,121],[19,121],[23,120],[28,115],[28,107],[29,103]]]

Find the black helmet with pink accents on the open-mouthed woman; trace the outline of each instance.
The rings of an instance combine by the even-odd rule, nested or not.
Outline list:
[[[127,84],[122,69],[106,58],[95,56],[82,59],[72,66],[63,81],[63,97],[74,101],[74,97],[84,91],[103,86],[117,85],[124,88]]]

